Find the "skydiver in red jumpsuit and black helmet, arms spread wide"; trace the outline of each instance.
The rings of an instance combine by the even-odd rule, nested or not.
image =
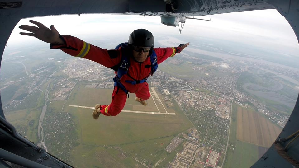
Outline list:
[[[115,71],[114,90],[110,105],[96,104],[93,110],[93,119],[100,114],[116,116],[125,106],[128,93],[135,93],[135,100],[147,105],[150,98],[149,85],[146,79],[156,71],[158,64],[168,57],[180,53],[189,43],[180,44],[179,47],[154,48],[154,36],[145,29],[134,30],[127,43],[119,44],[115,49],[102,49],[86,43],[70,35],[60,35],[53,25],[50,29],[43,24],[30,20],[36,26],[21,25],[23,33],[50,43],[50,49],[61,49],[74,57],[86,58],[97,62]],[[128,95],[129,97],[129,95]]]

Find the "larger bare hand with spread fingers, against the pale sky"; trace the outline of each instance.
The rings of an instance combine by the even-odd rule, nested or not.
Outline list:
[[[42,40],[46,43],[53,43],[53,44],[64,44],[64,40],[59,38],[58,31],[54,28],[53,25],[50,26],[51,29],[44,26],[40,22],[30,20],[31,23],[35,24],[38,27],[35,26],[29,26],[29,25],[21,25],[19,26],[20,29],[30,31],[31,33],[23,33],[21,32],[21,35],[28,35],[36,37],[39,40]]]

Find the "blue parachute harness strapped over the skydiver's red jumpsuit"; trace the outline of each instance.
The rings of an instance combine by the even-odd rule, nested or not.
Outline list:
[[[128,69],[130,66],[130,60],[128,55],[131,54],[129,53],[129,46],[128,43],[121,43],[118,44],[115,49],[119,49],[119,47],[121,47],[121,64],[117,70],[117,74],[115,75],[115,77],[113,78],[114,81],[114,87],[117,86],[117,91],[116,94],[118,92],[118,89],[121,88],[123,91],[125,91],[125,93],[128,95],[129,98],[129,92],[128,90],[125,88],[125,86],[121,83],[121,77],[124,74],[127,74],[129,77],[131,77],[128,74]],[[136,85],[139,83],[144,83],[146,82],[147,78],[151,75],[153,76],[153,74],[156,72],[157,68],[158,68],[158,61],[157,61],[157,54],[155,53],[155,51],[152,49],[152,53],[150,54],[150,62],[151,62],[151,73],[145,77],[142,80],[135,80],[133,77],[131,77],[132,79],[134,79],[134,81],[130,81],[130,80],[126,80],[125,82],[131,83],[132,85]]]

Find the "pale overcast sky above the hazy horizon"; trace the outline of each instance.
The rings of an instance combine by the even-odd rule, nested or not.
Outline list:
[[[133,30],[145,28],[151,31],[154,36],[176,35],[176,37],[182,36],[184,39],[190,39],[190,41],[183,41],[186,43],[192,43],[192,40],[197,38],[229,40],[236,43],[287,51],[287,54],[299,56],[297,54],[299,53],[299,46],[295,33],[286,19],[276,9],[234,12],[195,18],[211,18],[212,21],[187,19],[182,34],[179,34],[178,27],[163,25],[159,16],[81,14],[80,16],[62,15],[26,18],[21,19],[17,24],[7,44],[38,42],[33,37],[20,35],[19,32],[25,31],[18,28],[21,24],[32,25],[29,20],[35,20],[47,27],[54,25],[61,35],[73,35],[82,40],[105,39],[117,35],[126,38]]]

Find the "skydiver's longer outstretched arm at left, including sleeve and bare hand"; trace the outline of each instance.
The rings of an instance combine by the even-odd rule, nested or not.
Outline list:
[[[50,43],[50,49],[61,49],[74,57],[86,58],[112,69],[115,69],[121,61],[119,50],[102,49],[70,35],[61,36],[53,25],[49,29],[37,21],[30,20],[30,22],[38,27],[21,25],[20,29],[30,31],[31,33],[20,34],[33,36],[41,41]]]

